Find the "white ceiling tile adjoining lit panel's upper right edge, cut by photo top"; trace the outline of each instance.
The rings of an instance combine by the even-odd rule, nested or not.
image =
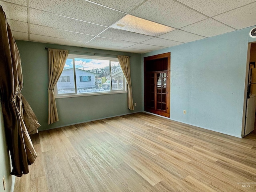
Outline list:
[[[130,14],[174,28],[206,19],[206,16],[172,0],[148,0]]]

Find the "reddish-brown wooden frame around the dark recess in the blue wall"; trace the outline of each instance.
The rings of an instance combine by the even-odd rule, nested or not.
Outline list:
[[[156,111],[154,112],[154,114],[158,114],[161,116],[165,116],[165,117],[169,117],[170,118],[170,70],[171,70],[171,53],[163,53],[163,54],[158,54],[158,55],[153,55],[153,56],[148,56],[148,57],[144,57],[144,110],[146,109],[146,86],[145,86],[145,82],[146,82],[146,62],[149,60],[156,60],[156,59],[162,59],[162,58],[167,58],[167,85],[166,85],[166,89],[167,89],[167,94],[166,94],[166,106],[167,106],[167,110],[166,113],[164,112],[160,112],[160,111]]]

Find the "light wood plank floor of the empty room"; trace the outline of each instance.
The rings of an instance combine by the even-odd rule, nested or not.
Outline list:
[[[255,133],[240,139],[137,113],[32,140],[38,158],[15,192],[256,191]]]

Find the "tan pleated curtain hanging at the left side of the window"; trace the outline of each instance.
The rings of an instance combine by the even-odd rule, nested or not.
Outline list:
[[[52,124],[59,120],[54,96],[54,87],[60,78],[67,58],[67,50],[48,49],[48,124]]]

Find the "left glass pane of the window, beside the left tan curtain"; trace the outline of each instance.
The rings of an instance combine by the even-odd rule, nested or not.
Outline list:
[[[75,93],[73,59],[67,59],[62,74],[57,82],[58,94]]]

